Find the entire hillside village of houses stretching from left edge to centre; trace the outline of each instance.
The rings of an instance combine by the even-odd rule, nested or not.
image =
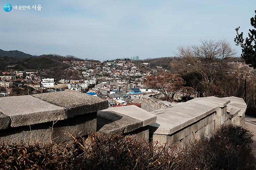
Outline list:
[[[130,59],[104,62],[74,60],[63,63],[69,65],[66,71],[78,71],[79,79],[70,76],[58,80],[40,76],[41,70],[19,71],[8,66],[10,69],[0,75],[1,97],[74,90],[107,99],[109,106],[136,105],[140,103],[142,96],[155,92],[145,89],[143,77],[162,69],[157,66],[151,71],[141,71]],[[148,65],[149,63],[142,63],[142,66]],[[17,89],[23,93],[15,93]]]

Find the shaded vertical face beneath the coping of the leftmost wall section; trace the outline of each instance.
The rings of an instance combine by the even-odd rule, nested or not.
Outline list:
[[[89,116],[88,116],[89,115]],[[76,116],[66,120],[34,124],[30,126],[11,127],[0,130],[0,143],[61,143],[72,140],[65,134],[83,136],[96,131],[96,113]]]

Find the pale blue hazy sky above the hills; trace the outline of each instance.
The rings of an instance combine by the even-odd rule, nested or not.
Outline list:
[[[173,56],[179,45],[248,33],[256,0],[2,0],[0,49],[89,59]],[[42,11],[5,12],[3,5],[40,4]]]

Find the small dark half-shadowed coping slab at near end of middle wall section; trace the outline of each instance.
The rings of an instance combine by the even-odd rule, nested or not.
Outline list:
[[[97,131],[100,133],[120,134],[125,126],[97,117]]]

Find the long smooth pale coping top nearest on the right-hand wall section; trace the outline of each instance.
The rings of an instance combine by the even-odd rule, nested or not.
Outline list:
[[[151,112],[157,116],[150,124],[150,133],[172,134],[215,112],[216,107],[194,102],[178,103]]]

